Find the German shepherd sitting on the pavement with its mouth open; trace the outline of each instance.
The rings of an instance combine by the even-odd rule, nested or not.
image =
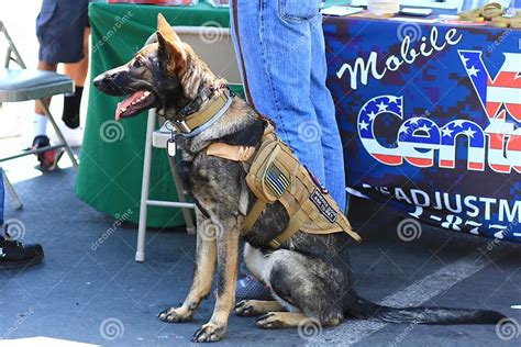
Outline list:
[[[200,94],[211,90],[224,93],[224,85],[182,43],[159,14],[156,42],[145,45],[125,65],[98,76],[93,83],[111,96],[126,96],[115,117],[133,116],[157,108],[160,116],[182,121],[180,110],[197,104]],[[246,300],[235,305],[235,281],[240,231],[255,201],[239,161],[207,155],[212,143],[255,146],[266,119],[244,100],[233,97],[231,107],[211,126],[192,137],[176,135],[181,152],[179,171],[196,202],[197,257],[193,282],[185,302],[159,313],[168,323],[193,318],[199,304],[211,290],[217,262],[217,301],[210,321],[193,335],[197,343],[223,337],[230,312],[258,315],[262,328],[296,327],[313,318],[324,326],[337,325],[344,317],[372,318],[391,323],[496,324],[505,316],[494,311],[440,307],[395,309],[362,299],[353,288],[346,233],[314,235],[297,232],[279,249],[267,244],[286,228],[289,217],[284,206],[268,204],[251,230],[244,249],[246,266],[267,283],[274,301]],[[214,237],[203,237],[201,225],[214,226]]]

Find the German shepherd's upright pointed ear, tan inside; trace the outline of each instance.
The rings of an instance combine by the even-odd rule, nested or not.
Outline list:
[[[156,35],[162,68],[168,74],[182,74],[186,69],[187,53],[182,48],[179,36],[160,13],[157,15]]]

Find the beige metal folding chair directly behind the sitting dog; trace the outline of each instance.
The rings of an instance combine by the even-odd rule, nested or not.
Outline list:
[[[237,61],[235,59],[233,43],[230,36],[230,29],[217,26],[174,26],[174,30],[179,37],[188,43],[197,55],[204,60],[210,69],[218,76],[225,77],[231,85],[241,83],[241,75],[239,71]],[[210,40],[211,38],[211,40]],[[155,34],[148,37],[147,43],[155,40]],[[182,188],[181,179],[177,172],[176,158],[168,157],[170,164],[174,183],[179,197],[179,201],[158,201],[148,199],[149,179],[151,179],[151,163],[152,149],[165,148],[166,142],[171,137],[170,131],[165,126],[160,130],[155,130],[156,110],[148,111],[148,119],[146,124],[146,139],[145,139],[145,155],[143,163],[143,183],[141,189],[141,204],[140,204],[140,223],[137,227],[137,246],[135,253],[135,261],[145,261],[145,245],[146,245],[146,214],[147,206],[164,206],[182,209],[182,215],[187,223],[187,232],[193,234],[196,227],[191,217],[190,209],[195,209],[193,203],[188,203],[186,199],[186,191]]]

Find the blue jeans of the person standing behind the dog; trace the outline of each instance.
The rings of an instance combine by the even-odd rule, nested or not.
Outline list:
[[[247,101],[344,210],[345,176],[320,0],[233,0],[231,29]]]

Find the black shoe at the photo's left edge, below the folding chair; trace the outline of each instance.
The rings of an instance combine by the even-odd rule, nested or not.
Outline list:
[[[16,269],[33,266],[43,261],[41,245],[23,245],[11,239],[9,234],[0,235],[0,269]]]

